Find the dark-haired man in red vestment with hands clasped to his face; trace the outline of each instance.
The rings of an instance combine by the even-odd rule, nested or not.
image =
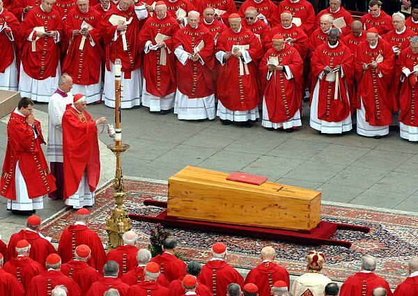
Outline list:
[[[22,98],[12,111],[7,135],[0,195],[8,198],[8,210],[33,212],[42,209],[42,196],[56,187],[40,147],[45,141],[40,122],[33,116],[31,99]]]

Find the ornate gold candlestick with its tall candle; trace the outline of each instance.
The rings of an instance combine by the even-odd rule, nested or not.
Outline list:
[[[115,72],[115,143],[108,145],[113,153],[116,154],[116,173],[114,179],[114,198],[116,208],[111,212],[109,219],[106,221],[106,231],[109,236],[109,244],[107,251],[116,249],[123,244],[122,235],[131,228],[130,218],[127,216],[127,212],[122,208],[123,197],[125,192],[123,191],[123,174],[121,165],[121,153],[125,152],[129,145],[122,143],[122,123],[121,123],[121,60],[116,59],[114,65]]]

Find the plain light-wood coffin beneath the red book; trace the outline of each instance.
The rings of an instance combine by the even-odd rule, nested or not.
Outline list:
[[[320,222],[320,192],[226,180],[227,173],[187,166],[169,178],[168,218],[309,231]]]

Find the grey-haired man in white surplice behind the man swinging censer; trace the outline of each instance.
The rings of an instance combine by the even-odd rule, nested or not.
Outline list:
[[[48,194],[49,198],[62,199],[64,190],[63,166],[63,114],[65,107],[72,103],[72,78],[64,73],[59,79],[59,86],[48,103],[48,146],[47,160],[56,181],[56,191]]]

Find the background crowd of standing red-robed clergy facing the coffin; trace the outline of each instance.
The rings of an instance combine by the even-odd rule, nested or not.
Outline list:
[[[320,134],[356,124],[379,139],[398,125],[418,141],[415,1],[400,2],[407,20],[378,0],[360,21],[329,3],[315,15],[307,0],[246,0],[239,10],[233,0],[0,0],[0,88],[35,102],[72,88],[114,107],[120,64],[122,108],[245,127],[261,108],[263,127],[292,132],[310,97]],[[61,73],[71,81],[56,90]]]

